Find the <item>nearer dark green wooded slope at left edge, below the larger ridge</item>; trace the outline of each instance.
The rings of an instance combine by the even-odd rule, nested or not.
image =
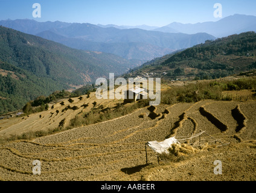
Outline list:
[[[14,65],[0,62],[0,114],[22,109],[39,95],[49,95],[63,87],[50,78],[36,77]]]

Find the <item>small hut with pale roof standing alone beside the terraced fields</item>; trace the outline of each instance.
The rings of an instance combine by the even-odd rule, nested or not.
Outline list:
[[[142,100],[143,96],[147,96],[147,92],[145,92],[145,89],[134,87],[133,89],[129,89],[124,92],[124,102],[133,103],[138,100]]]

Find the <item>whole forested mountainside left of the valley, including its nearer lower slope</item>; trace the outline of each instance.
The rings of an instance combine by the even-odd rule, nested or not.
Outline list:
[[[82,51],[0,27],[0,114],[55,90],[95,83],[133,63],[114,54]]]

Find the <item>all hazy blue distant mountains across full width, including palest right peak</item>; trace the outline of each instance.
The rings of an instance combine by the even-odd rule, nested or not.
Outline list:
[[[148,25],[93,25],[66,22],[36,22],[30,19],[4,20],[0,25],[62,43],[71,48],[107,52],[136,59],[138,65],[171,52],[189,48],[205,40],[256,31],[256,17],[234,14],[217,22],[164,27]]]

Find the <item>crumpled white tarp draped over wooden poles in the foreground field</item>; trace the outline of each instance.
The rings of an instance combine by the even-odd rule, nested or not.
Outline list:
[[[179,144],[179,141],[173,137],[165,139],[165,141],[158,142],[158,141],[150,141],[147,142],[146,145],[148,145],[150,148],[152,148],[153,151],[156,153],[168,153],[168,148],[171,147],[171,144]]]

